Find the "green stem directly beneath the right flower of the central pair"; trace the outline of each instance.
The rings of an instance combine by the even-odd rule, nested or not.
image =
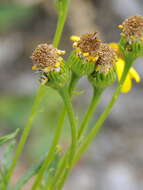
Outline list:
[[[87,129],[88,123],[100,102],[100,98],[101,98],[103,91],[104,91],[104,88],[95,88],[94,87],[91,103],[88,107],[87,112],[85,113],[85,116],[84,116],[84,118],[81,122],[80,128],[79,128],[78,140],[80,140],[82,135],[84,135],[84,132]]]

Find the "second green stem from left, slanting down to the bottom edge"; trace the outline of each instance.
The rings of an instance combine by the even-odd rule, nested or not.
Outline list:
[[[38,186],[40,185],[40,183],[42,181],[42,177],[44,175],[45,170],[48,168],[48,166],[51,164],[51,162],[54,159],[54,153],[56,151],[56,146],[57,146],[60,136],[61,136],[64,118],[65,118],[65,110],[63,110],[61,113],[60,120],[58,121],[58,126],[55,131],[55,135],[54,135],[54,139],[53,139],[50,151],[48,152],[48,155],[45,158],[45,160],[42,164],[42,167],[40,168],[40,170],[38,172],[35,183],[32,186],[32,190],[35,190],[36,188],[38,188]]]

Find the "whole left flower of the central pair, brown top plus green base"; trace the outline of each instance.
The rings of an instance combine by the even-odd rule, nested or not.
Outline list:
[[[71,70],[77,76],[91,74],[98,59],[98,50],[101,44],[97,33],[87,33],[81,37],[71,36],[71,40],[74,41],[74,51],[68,60]]]

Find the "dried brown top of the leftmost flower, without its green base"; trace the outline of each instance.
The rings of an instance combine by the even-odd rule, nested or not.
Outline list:
[[[34,61],[32,70],[39,70],[46,73],[59,70],[63,62],[63,58],[60,55],[64,53],[65,51],[58,50],[51,44],[38,45],[31,56],[31,59]]]

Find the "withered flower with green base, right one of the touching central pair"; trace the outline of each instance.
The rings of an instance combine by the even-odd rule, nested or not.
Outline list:
[[[95,87],[107,87],[116,80],[116,53],[107,44],[101,44],[94,72],[88,79]]]

